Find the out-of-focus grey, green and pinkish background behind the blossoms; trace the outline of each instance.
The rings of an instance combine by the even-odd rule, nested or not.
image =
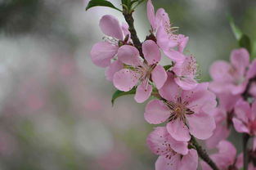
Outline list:
[[[110,0],[119,7],[119,0]],[[146,147],[154,128],[132,96],[112,107],[115,88],[92,64],[90,48],[110,8],[85,11],[88,0],[0,0],[0,170],[149,170],[156,156]],[[209,80],[213,60],[238,47],[227,22],[256,39],[254,0],[155,0],[179,33],[186,52]],[[143,40],[150,28],[146,4],[135,12]],[[166,63],[168,65],[168,63]]]

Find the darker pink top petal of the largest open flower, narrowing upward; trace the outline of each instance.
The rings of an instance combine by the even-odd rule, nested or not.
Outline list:
[[[167,101],[176,101],[180,96],[181,88],[177,86],[177,83],[173,80],[173,74],[168,73],[168,78],[164,83],[164,86],[159,89],[159,94]]]

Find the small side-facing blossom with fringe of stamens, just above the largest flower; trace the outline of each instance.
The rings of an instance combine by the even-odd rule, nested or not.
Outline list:
[[[197,64],[194,56],[186,56],[184,61],[177,62],[172,71],[175,74],[175,82],[182,87],[183,90],[191,90],[197,86],[195,80]]]

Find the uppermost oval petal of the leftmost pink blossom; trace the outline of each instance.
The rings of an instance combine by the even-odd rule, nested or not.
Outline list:
[[[115,16],[102,16],[100,20],[100,27],[102,33],[107,36],[123,40],[123,32],[121,26],[119,25],[119,20]]]

